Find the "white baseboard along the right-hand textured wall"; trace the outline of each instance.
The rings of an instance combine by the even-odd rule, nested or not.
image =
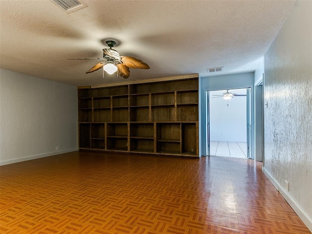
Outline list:
[[[273,178],[273,176],[265,169],[262,168],[264,174],[271,181],[276,190],[285,198],[288,204],[292,207],[294,212],[299,216],[299,218],[304,222],[308,229],[312,232],[312,218],[309,217],[301,207],[294,201],[292,196]]]

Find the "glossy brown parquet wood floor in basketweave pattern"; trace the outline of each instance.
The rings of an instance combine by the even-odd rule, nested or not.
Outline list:
[[[311,233],[261,165],[73,152],[1,166],[0,233]]]

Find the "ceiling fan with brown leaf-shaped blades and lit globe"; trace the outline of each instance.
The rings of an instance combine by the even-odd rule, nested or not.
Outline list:
[[[75,58],[75,59],[100,59],[104,60],[94,65],[86,74],[95,72],[100,68],[103,68],[103,77],[104,71],[108,74],[113,74],[117,72],[117,77],[129,78],[130,69],[129,68],[138,68],[138,69],[150,69],[149,65],[143,62],[140,59],[129,56],[120,56],[117,50],[112,49],[116,45],[116,41],[107,40],[105,43],[110,47],[109,49],[103,49],[103,58]]]

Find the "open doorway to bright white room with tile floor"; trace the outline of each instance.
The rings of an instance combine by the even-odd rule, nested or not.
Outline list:
[[[250,158],[250,88],[207,91],[206,98],[207,155]]]

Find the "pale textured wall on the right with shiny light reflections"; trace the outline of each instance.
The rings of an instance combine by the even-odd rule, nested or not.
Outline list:
[[[265,55],[265,171],[312,220],[312,1],[299,0]],[[311,226],[310,226],[311,228]]]

